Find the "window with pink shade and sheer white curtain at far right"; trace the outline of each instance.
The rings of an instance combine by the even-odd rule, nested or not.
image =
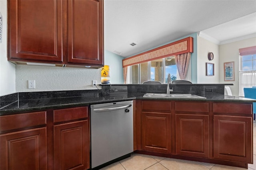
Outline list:
[[[239,49],[239,96],[244,96],[244,87],[256,86],[256,46]]]

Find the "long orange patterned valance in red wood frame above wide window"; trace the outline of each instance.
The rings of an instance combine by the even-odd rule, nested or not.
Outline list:
[[[127,67],[129,65],[134,65],[138,63],[143,63],[146,61],[151,61],[154,59],[164,58],[171,55],[179,55],[184,53],[192,53],[193,52],[193,38],[188,37],[182,40],[178,40],[173,43],[169,43],[167,45],[163,45],[161,47],[152,49],[150,51],[146,51],[144,53],[140,53],[138,55],[134,55],[132,57],[123,59],[123,67]]]

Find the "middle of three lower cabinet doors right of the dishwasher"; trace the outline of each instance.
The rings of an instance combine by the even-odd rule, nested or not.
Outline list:
[[[176,114],[176,154],[209,158],[209,116]]]

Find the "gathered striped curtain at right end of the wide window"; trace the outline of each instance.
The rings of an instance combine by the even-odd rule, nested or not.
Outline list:
[[[180,79],[185,80],[190,64],[191,53],[175,55],[175,62]]]

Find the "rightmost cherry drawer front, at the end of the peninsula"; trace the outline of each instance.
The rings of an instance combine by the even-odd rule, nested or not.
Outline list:
[[[251,104],[213,103],[214,113],[242,113],[252,115]]]

